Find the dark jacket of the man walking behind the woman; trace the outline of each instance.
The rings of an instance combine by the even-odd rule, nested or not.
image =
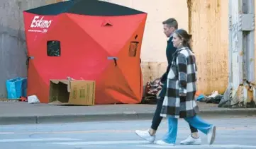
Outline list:
[[[166,56],[167,56],[167,61],[168,61],[168,66],[167,66],[167,71],[162,75],[161,77],[161,82],[163,83],[162,90],[160,93],[160,97],[165,97],[166,90],[167,90],[167,75],[169,73],[169,68],[171,67],[172,64],[172,54],[176,51],[176,47],[173,47],[172,44],[172,37],[169,38],[167,41],[167,47],[166,47]]]

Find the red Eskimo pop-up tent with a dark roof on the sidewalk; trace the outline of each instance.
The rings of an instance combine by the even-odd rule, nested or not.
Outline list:
[[[147,13],[96,0],[73,0],[23,12],[28,96],[48,103],[50,79],[96,81],[95,104],[138,103],[140,47]]]

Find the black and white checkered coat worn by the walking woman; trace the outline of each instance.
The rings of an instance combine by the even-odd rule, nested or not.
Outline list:
[[[196,59],[188,47],[177,49],[167,76],[167,93],[161,117],[193,117],[199,112],[196,105]]]

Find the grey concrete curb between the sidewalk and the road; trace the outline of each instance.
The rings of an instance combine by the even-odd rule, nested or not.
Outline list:
[[[154,112],[123,112],[122,114],[63,114],[48,116],[0,117],[0,125],[11,124],[50,124],[74,123],[89,121],[126,121],[126,120],[151,120]],[[226,117],[255,117],[255,109],[215,109],[202,110],[199,116],[206,118]]]

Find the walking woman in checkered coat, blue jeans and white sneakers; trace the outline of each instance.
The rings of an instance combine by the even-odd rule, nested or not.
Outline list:
[[[186,30],[174,32],[173,45],[177,50],[173,54],[172,66],[167,76],[167,92],[162,105],[161,117],[167,117],[168,131],[166,136],[156,143],[174,145],[177,138],[178,119],[184,118],[189,125],[199,129],[208,136],[208,144],[215,140],[216,126],[203,121],[196,114],[196,59],[191,51],[189,41],[191,35]]]

